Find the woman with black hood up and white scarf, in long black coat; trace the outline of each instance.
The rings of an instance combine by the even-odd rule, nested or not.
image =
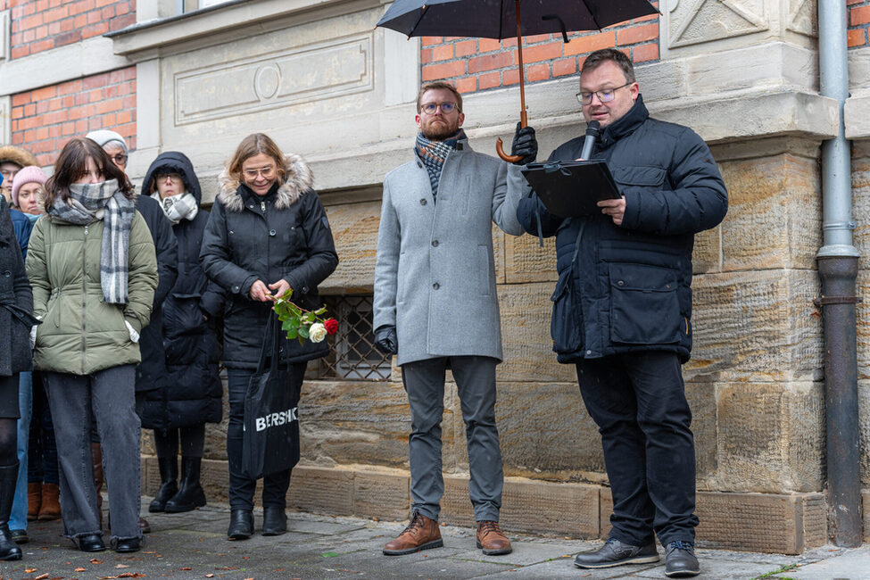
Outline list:
[[[154,430],[161,476],[148,511],[178,513],[205,505],[200,485],[205,424],[219,423],[222,411],[220,344],[213,320],[222,314],[223,295],[199,263],[209,214],[199,209],[202,192],[190,160],[184,153],[161,153],[145,174],[142,192],[160,203],[178,241],[178,278],[162,304],[166,377],[145,392],[138,408],[142,427]]]

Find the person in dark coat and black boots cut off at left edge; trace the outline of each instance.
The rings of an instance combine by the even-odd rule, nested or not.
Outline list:
[[[0,560],[21,559],[21,548],[9,534],[9,516],[18,479],[18,380],[22,370],[31,369],[35,322],[21,248],[0,196]]]

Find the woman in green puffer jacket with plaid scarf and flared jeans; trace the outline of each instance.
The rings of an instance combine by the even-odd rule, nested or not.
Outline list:
[[[46,377],[61,472],[66,534],[105,550],[97,514],[90,426],[103,441],[116,551],[139,550],[139,332],[148,324],[157,260],[133,187],[102,147],[63,147],[46,182],[46,215],[30,236],[27,271],[37,327],[34,367]],[[84,467],[84,468],[83,468]]]

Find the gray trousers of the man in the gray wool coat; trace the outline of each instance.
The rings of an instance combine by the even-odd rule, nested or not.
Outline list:
[[[444,479],[441,463],[441,420],[444,371],[448,362],[460,395],[468,439],[468,495],[476,521],[498,521],[501,510],[501,447],[495,427],[495,365],[481,356],[453,356],[402,365],[402,383],[410,402],[410,494],[413,510],[437,520]]]

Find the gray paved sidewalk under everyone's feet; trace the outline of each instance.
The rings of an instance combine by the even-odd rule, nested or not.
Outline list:
[[[471,529],[443,526],[444,547],[387,557],[381,547],[403,523],[291,513],[287,534],[259,534],[244,542],[226,537],[229,513],[209,506],[186,514],[143,514],[153,533],[142,551],[86,554],[62,537],[60,522],[31,522],[24,559],[0,562],[0,580],[108,580],[112,578],[665,578],[664,553],[656,564],[582,570],[580,551],[601,542],[509,534],[514,551],[484,556]],[[702,578],[711,580],[870,580],[870,546],[827,546],[800,556],[699,549]]]

